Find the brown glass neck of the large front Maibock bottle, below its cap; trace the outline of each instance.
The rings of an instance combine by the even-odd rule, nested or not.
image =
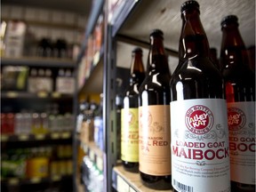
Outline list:
[[[209,43],[199,17],[199,11],[196,9],[186,10],[181,13],[181,18],[180,60],[210,57]]]

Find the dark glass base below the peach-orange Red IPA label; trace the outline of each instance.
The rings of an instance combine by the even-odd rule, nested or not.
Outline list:
[[[148,188],[155,190],[172,189],[172,176],[154,176],[140,172],[140,180],[142,184]]]

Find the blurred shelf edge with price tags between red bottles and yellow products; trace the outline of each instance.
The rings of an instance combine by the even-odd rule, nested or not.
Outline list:
[[[1,134],[1,142],[71,140],[72,132],[49,132],[38,134]]]

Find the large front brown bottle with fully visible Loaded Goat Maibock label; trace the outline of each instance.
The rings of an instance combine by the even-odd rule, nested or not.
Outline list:
[[[224,82],[210,58],[199,4],[187,1],[180,11],[180,58],[170,81],[172,187],[230,191]]]

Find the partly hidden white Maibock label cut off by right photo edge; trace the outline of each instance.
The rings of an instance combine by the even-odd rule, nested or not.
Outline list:
[[[255,185],[255,102],[228,103],[231,180]]]

